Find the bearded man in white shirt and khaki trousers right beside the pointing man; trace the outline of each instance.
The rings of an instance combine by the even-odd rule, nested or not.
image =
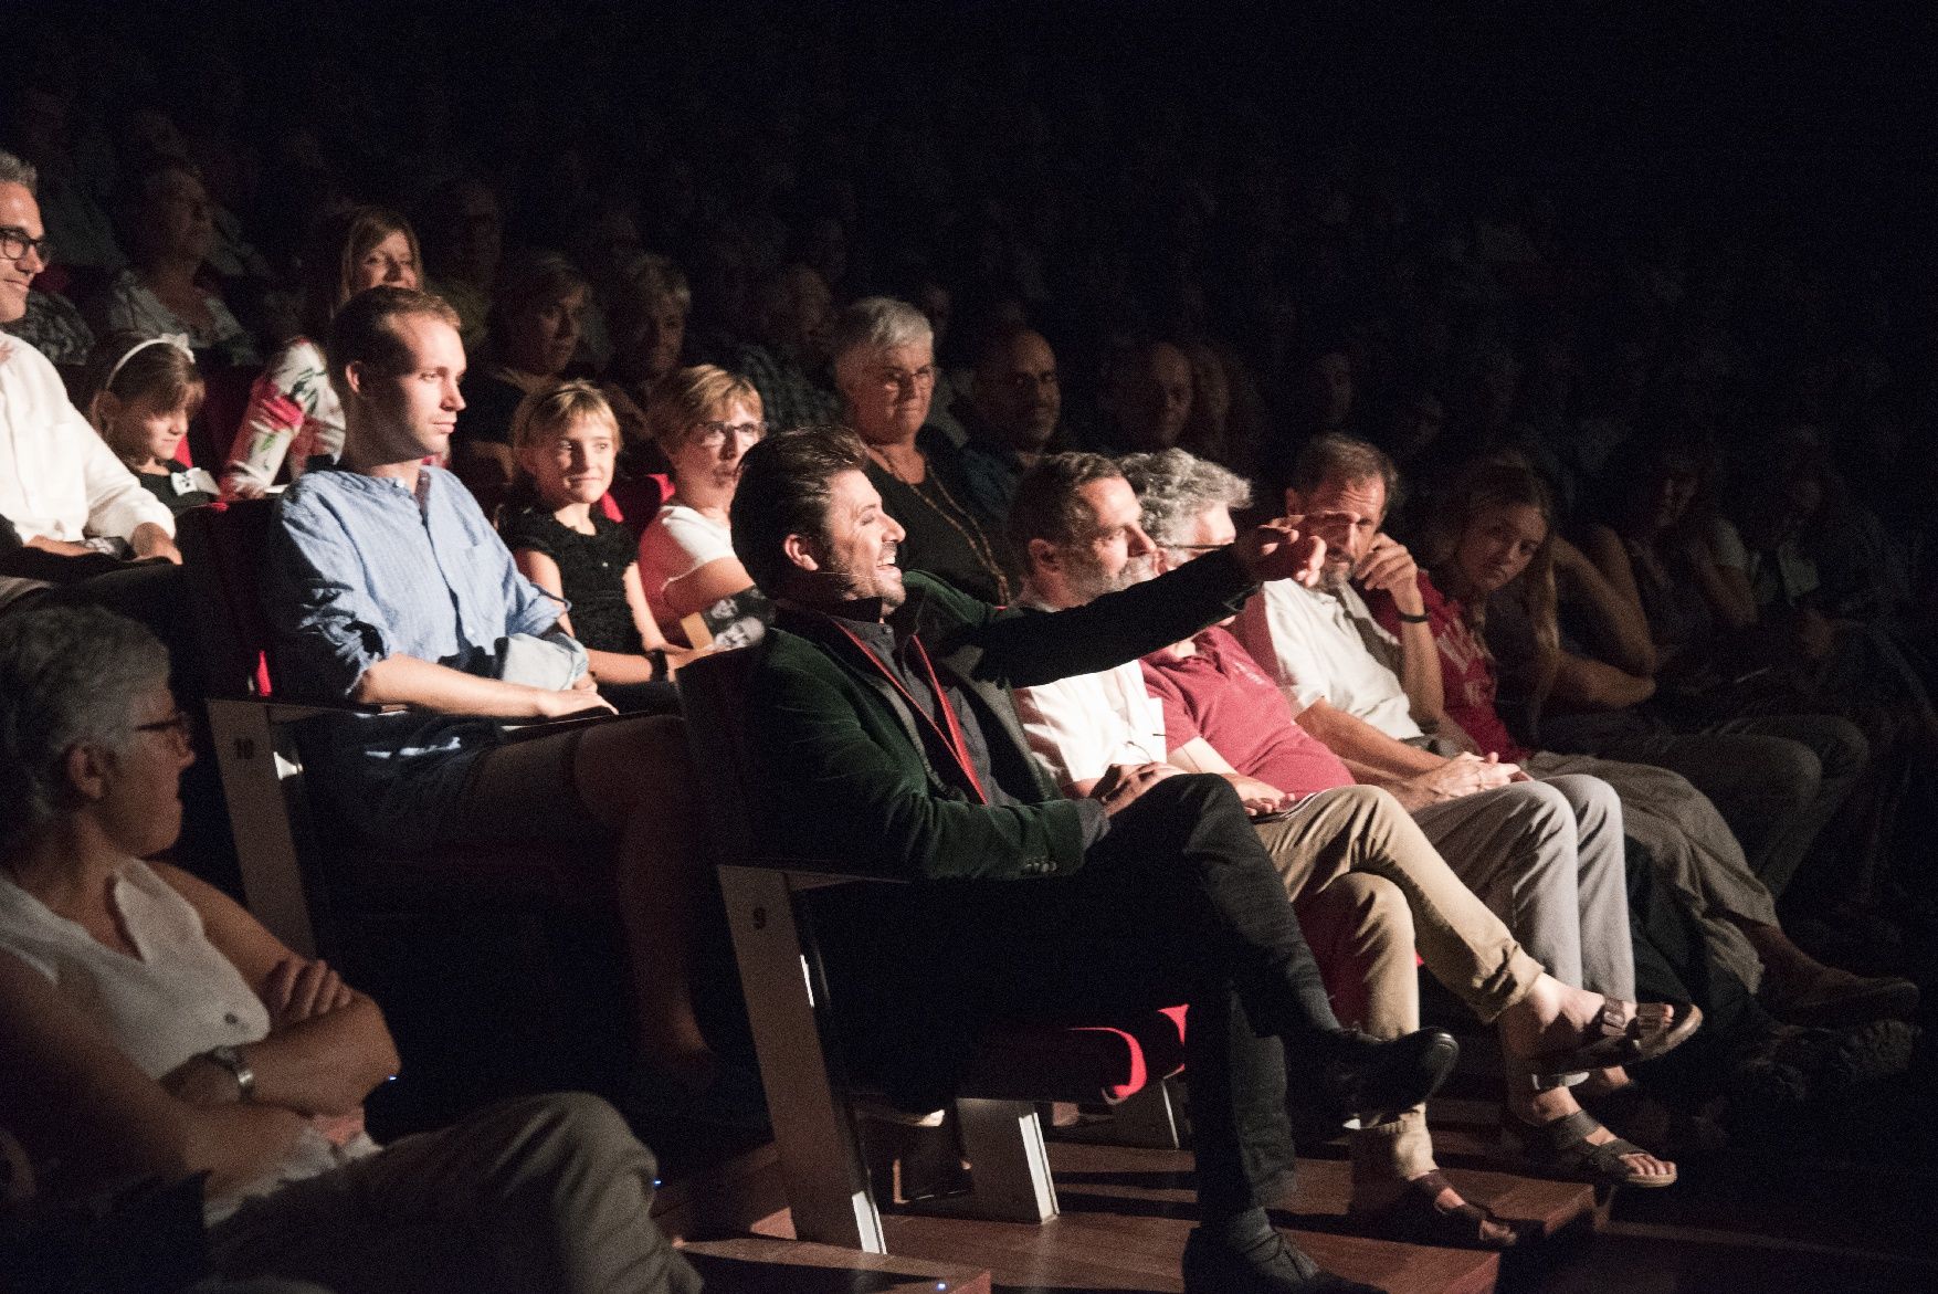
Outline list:
[[[1130,455],[1124,467],[1097,453],[1060,453],[1031,467],[1017,486],[1008,519],[1010,542],[1025,566],[1023,606],[1083,606],[1141,583],[1155,570],[1180,564],[1198,550],[1231,542],[1233,535],[1217,535],[1211,542],[1159,552],[1143,531],[1141,521],[1153,515],[1151,500],[1140,504],[1124,471],[1138,471],[1136,465],[1153,461],[1169,465],[1172,459],[1186,469],[1209,469],[1176,449]],[[1229,511],[1223,508],[1240,502],[1242,482],[1231,473],[1219,473],[1211,482],[1217,488],[1207,492],[1203,471],[1186,475],[1192,480],[1174,482],[1171,492],[1188,488],[1205,494],[1198,502],[1203,508],[1219,504],[1229,525]],[[1169,478],[1174,477],[1176,471]],[[1194,504],[1194,515],[1203,508]],[[1172,537],[1169,542],[1180,540]],[[1188,649],[1190,643],[1182,647]],[[1326,788],[1298,794],[1297,802],[1295,796],[1273,792],[1275,798],[1264,802],[1256,796],[1269,788],[1233,769],[1205,738],[1167,740],[1165,707],[1151,695],[1138,662],[1019,688],[1016,711],[1031,754],[1070,796],[1089,794],[1105,779],[1132,781],[1180,771],[1219,773],[1231,781],[1285,881],[1335,1011],[1349,1015],[1355,1027],[1378,1036],[1399,1036],[1419,1027],[1415,943],[1436,978],[1483,1021],[1498,1021],[1510,1054],[1525,1044],[1521,1031],[1529,1019],[1566,1011],[1562,1000],[1601,1001],[1593,992],[1564,988],[1543,974],[1502,920],[1434,854],[1391,794],[1376,786],[1343,785],[1347,775],[1333,763],[1337,781]],[[1289,717],[1285,724],[1293,726]],[[1519,924],[1560,926],[1578,920],[1576,860],[1560,858],[1548,848],[1547,835],[1539,823],[1529,825],[1529,839],[1500,854],[1516,872],[1512,916]],[[1516,862],[1525,862],[1523,854],[1537,854],[1548,866],[1514,868]],[[1616,891],[1616,899],[1620,897]],[[1421,910],[1419,932],[1415,905]],[[1612,957],[1626,961],[1626,903],[1597,912],[1597,918],[1599,926],[1591,932],[1574,932],[1576,943],[1614,945]],[[1564,978],[1579,976],[1579,957],[1566,969],[1558,967],[1558,972]],[[1628,980],[1591,988],[1628,996],[1632,982],[1630,972]],[[1597,1077],[1610,1085],[1626,1083],[1626,1075],[1612,1067]],[[1566,1089],[1552,1085],[1539,1094],[1516,1091],[1512,1098],[1517,1100],[1521,1118],[1531,1122],[1566,1120],[1579,1110]],[[1671,1164],[1618,1143],[1605,1129],[1593,1129],[1593,1137],[1599,1139],[1599,1149],[1583,1155],[1607,1156],[1612,1162],[1610,1182],[1667,1186],[1674,1180]],[[1512,1224],[1461,1199],[1438,1172],[1422,1110],[1407,1110],[1395,1120],[1359,1129],[1351,1145],[1353,1211],[1376,1217],[1382,1232],[1426,1244],[1506,1248],[1516,1242]]]

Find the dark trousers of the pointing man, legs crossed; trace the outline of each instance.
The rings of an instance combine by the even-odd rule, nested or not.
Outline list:
[[[1283,1193],[1285,1046],[1337,1021],[1271,858],[1223,779],[1159,783],[1072,876],[911,889],[890,907],[872,891],[839,916],[847,930],[833,940],[855,949],[857,924],[870,928],[866,953],[841,959],[837,1001],[847,986],[868,1000],[845,1032],[901,1071],[905,1085],[891,1091],[903,1104],[948,1100],[994,1021],[1095,1025],[1184,1001],[1200,1207],[1233,1213]],[[897,955],[909,934],[926,957]]]

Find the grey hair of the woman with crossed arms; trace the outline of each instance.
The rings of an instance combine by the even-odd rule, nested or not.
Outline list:
[[[134,620],[97,606],[0,616],[0,856],[68,806],[68,752],[122,750],[130,697],[169,680],[169,653]]]

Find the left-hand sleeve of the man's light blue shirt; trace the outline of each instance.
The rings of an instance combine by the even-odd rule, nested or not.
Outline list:
[[[345,519],[314,496],[285,496],[267,550],[264,612],[275,633],[277,678],[316,699],[347,699],[391,655],[386,618],[349,577],[362,554]]]

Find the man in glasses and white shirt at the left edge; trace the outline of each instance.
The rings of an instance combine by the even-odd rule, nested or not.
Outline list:
[[[0,153],[0,324],[27,312],[27,289],[50,254],[33,188],[33,167]],[[97,573],[103,554],[182,560],[169,509],[68,403],[54,366],[8,337],[0,337],[0,517],[17,539],[0,550],[0,575],[70,583]]]

